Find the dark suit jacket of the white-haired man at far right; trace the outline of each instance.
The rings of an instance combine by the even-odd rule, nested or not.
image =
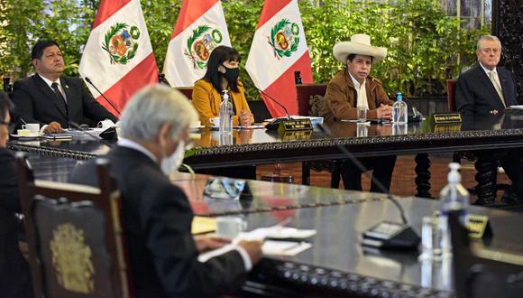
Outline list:
[[[518,105],[514,75],[502,67],[496,70],[507,107]],[[479,64],[459,77],[455,90],[455,104],[458,112],[464,115],[490,114],[491,110],[505,109],[491,79]]]

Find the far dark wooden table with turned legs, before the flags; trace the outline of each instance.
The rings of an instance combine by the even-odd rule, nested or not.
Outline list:
[[[425,120],[404,126],[356,126],[354,123],[326,124],[319,130],[279,134],[265,129],[234,130],[220,138],[216,130],[193,130],[195,147],[184,163],[194,169],[262,163],[286,163],[344,159],[343,146],[357,157],[387,154],[417,154],[417,196],[431,197],[428,154],[473,151],[478,159],[477,194],[482,201],[495,198],[491,182],[491,155],[503,149],[523,146],[523,111],[489,116],[463,116],[463,123],[436,126]],[[93,141],[88,137],[72,141],[11,140],[13,150],[85,160],[106,154],[114,141]]]

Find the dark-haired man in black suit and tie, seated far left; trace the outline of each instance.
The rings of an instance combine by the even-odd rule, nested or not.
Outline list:
[[[40,123],[45,133],[60,133],[69,121],[85,123],[118,119],[102,107],[81,79],[62,76],[65,63],[56,42],[42,40],[32,47],[36,74],[14,83],[13,101],[20,123]],[[23,120],[23,121],[22,121]]]

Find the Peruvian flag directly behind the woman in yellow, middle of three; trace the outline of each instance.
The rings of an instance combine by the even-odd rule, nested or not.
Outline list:
[[[184,0],[170,36],[163,73],[172,87],[192,87],[206,74],[211,51],[231,46],[219,0]]]

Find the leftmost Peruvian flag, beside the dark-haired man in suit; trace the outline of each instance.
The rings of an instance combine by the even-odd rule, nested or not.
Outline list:
[[[158,68],[140,0],[101,0],[78,72],[118,110],[140,88],[158,82]],[[118,115],[87,83],[100,104]]]

